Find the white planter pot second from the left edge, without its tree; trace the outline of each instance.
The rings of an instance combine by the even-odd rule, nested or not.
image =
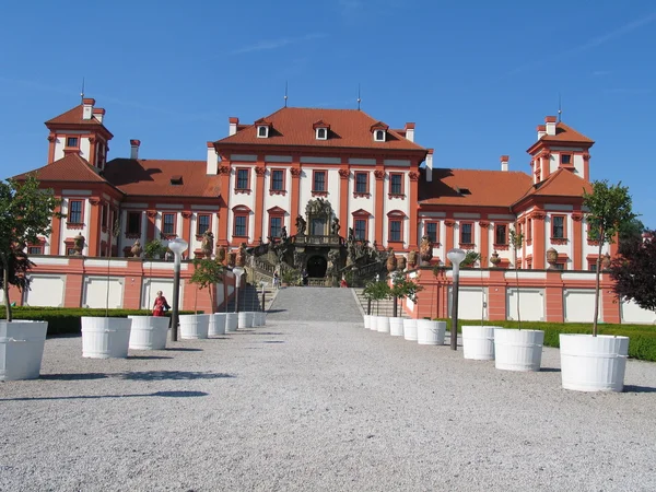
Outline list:
[[[130,347],[132,320],[82,316],[82,356],[125,359]]]

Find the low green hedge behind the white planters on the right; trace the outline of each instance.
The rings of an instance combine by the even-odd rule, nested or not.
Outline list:
[[[450,329],[450,318],[447,321],[447,331]],[[458,319],[458,331],[462,325],[487,325],[503,328],[518,328],[517,321],[488,321]],[[589,323],[544,323],[522,321],[522,328],[544,331],[544,345],[560,348],[560,333],[593,333]],[[656,326],[654,325],[613,325],[599,324],[599,335],[618,335],[629,337],[629,356],[641,361],[656,362]]]

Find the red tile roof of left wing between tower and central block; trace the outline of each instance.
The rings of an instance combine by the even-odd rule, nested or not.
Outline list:
[[[206,173],[206,161],[114,159],[104,174],[126,195],[215,198],[221,191],[221,177]],[[183,183],[172,185],[171,179],[179,176]]]

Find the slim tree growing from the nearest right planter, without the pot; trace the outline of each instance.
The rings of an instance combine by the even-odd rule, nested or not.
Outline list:
[[[583,206],[587,209],[588,234],[599,242],[595,281],[595,317],[593,337],[597,336],[599,320],[599,279],[601,277],[601,253],[604,244],[613,244],[621,227],[637,215],[632,211],[629,188],[622,183],[609,185],[607,180],[594,181],[593,192],[583,191]]]

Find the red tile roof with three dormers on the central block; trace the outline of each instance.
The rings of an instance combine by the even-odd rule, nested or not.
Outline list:
[[[239,129],[237,133],[216,141],[216,144],[219,147],[225,143],[241,143],[257,145],[425,150],[421,145],[407,140],[396,130],[388,130],[387,141],[375,142],[372,134],[372,126],[382,122],[358,109],[283,107],[258,121],[261,120],[271,124],[269,138],[258,138],[255,125],[248,125],[244,129]],[[319,120],[330,125],[327,140],[316,139],[313,125]],[[386,127],[385,124],[382,125]]]

